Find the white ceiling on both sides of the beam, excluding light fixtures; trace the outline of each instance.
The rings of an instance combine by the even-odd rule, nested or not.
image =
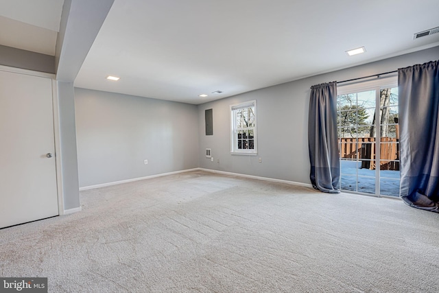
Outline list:
[[[0,0],[0,44],[54,55],[63,2]],[[115,0],[75,86],[202,104],[438,46],[439,34],[413,39],[439,26],[438,10],[438,0]]]

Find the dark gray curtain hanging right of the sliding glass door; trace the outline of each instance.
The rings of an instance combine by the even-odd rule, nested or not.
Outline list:
[[[398,70],[400,196],[418,209],[439,212],[438,61]]]

